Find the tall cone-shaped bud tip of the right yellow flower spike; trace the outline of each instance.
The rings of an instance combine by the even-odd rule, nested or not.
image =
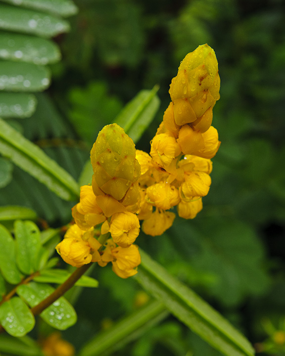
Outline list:
[[[174,104],[176,100],[188,99],[191,106],[187,110],[184,107],[182,118],[174,116],[176,124],[184,125],[200,118],[220,98],[219,90],[220,77],[215,52],[207,44],[200,45],[187,54],[170,85],[169,93]]]

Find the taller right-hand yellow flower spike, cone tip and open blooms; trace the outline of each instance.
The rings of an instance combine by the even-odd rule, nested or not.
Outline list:
[[[150,142],[150,155],[137,150],[142,167],[138,216],[148,235],[161,235],[172,225],[175,214],[168,210],[174,206],[185,219],[193,219],[202,209],[201,197],[211,184],[210,158],[220,146],[218,132],[211,126],[219,89],[215,52],[200,45],[184,58],[172,79],[172,101]]]

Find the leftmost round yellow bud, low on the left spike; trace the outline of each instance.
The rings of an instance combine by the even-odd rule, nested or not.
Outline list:
[[[55,247],[63,261],[73,267],[81,267],[92,260],[91,248],[87,241],[77,238],[65,238]]]

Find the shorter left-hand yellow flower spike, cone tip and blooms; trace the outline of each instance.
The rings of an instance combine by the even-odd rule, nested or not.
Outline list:
[[[75,224],[56,246],[62,259],[75,267],[90,262],[113,265],[122,278],[137,273],[141,263],[138,248],[133,245],[140,233],[140,222],[134,213],[140,206],[138,179],[141,167],[136,159],[135,144],[117,124],[105,126],[91,150],[93,180],[83,185],[80,202],[72,208]],[[94,227],[112,239],[104,246],[94,237]]]

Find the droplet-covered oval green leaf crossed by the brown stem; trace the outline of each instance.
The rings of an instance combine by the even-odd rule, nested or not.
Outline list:
[[[54,289],[48,284],[31,282],[20,285],[17,293],[30,305],[35,307],[46,299]],[[65,330],[76,323],[77,315],[72,305],[64,297],[53,302],[40,316],[55,329]]]

